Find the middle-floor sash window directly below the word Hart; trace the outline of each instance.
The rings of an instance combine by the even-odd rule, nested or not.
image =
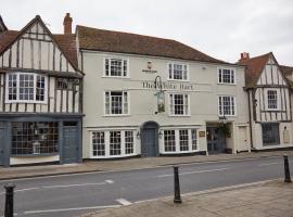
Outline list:
[[[189,95],[169,94],[170,115],[189,115]]]

